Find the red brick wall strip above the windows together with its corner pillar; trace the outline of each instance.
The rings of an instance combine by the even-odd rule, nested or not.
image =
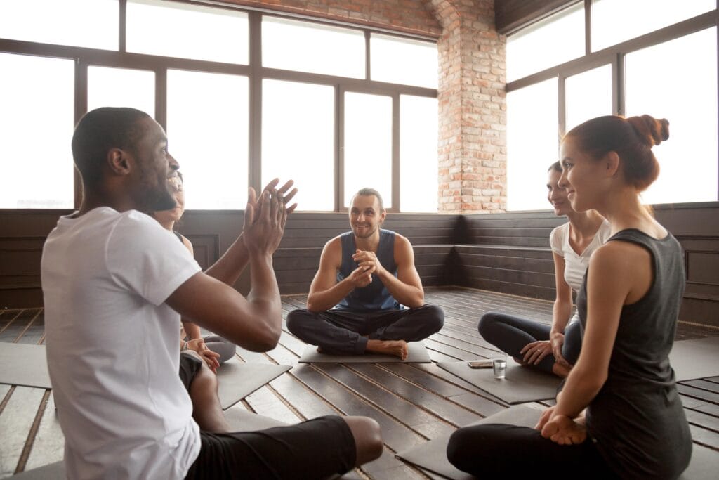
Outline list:
[[[226,0],[438,38],[439,211],[503,212],[506,38],[493,0]]]

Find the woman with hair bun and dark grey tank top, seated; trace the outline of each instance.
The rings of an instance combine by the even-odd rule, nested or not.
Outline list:
[[[651,148],[668,138],[667,120],[643,115],[591,119],[562,140],[559,185],[574,210],[597,210],[612,232],[577,295],[582,351],[534,429],[452,434],[447,457],[460,470],[487,479],[676,479],[689,464],[692,438],[669,365],[684,258],[639,197],[659,174]]]

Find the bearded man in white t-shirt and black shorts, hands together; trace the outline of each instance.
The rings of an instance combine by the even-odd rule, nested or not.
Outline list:
[[[179,166],[160,124],[136,109],[96,109],[75,127],[72,151],[81,207],[60,217],[42,252],[47,363],[68,478],[319,479],[380,456],[380,428],[367,417],[201,430],[178,376],[180,316],[248,350],[277,345],[272,257],[295,207],[286,206],[291,181],[280,189],[271,181],[259,199],[249,189],[242,233],[203,273],[173,234],[140,213],[175,205],[169,178]],[[245,298],[229,285],[248,263]],[[188,369],[193,389],[202,362]]]

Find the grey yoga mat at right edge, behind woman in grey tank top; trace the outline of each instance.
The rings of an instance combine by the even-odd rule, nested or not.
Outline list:
[[[674,342],[669,364],[674,368],[677,381],[719,375],[719,337]]]

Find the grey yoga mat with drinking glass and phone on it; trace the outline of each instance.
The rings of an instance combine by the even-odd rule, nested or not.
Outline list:
[[[470,368],[466,361],[438,362],[437,365],[509,404],[553,399],[562,381],[551,373],[523,367],[511,357],[507,358],[506,378],[502,380],[494,378],[492,368]]]

